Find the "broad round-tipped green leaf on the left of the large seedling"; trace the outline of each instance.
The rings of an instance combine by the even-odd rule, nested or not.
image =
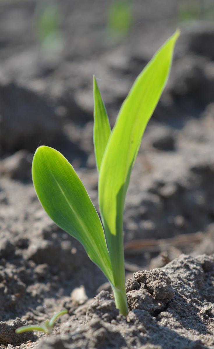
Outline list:
[[[88,257],[113,282],[102,224],[87,191],[59,151],[42,146],[34,155],[32,177],[38,199],[52,220],[84,246]]]

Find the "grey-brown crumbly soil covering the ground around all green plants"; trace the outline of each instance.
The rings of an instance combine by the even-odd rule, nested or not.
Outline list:
[[[35,1],[0,3],[1,349],[214,348],[214,25],[178,23],[176,0],[136,0],[119,40],[106,30],[112,2],[60,1],[64,46],[55,55],[38,40]],[[171,76],[127,194],[125,318],[83,247],[41,208],[31,162],[38,145],[56,147],[98,209],[92,75],[114,125],[137,74],[177,26]],[[51,336],[15,334],[61,309],[68,314]]]

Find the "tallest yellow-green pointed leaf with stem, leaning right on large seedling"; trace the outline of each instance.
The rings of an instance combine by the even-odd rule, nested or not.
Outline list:
[[[114,284],[124,284],[123,209],[145,127],[169,76],[176,31],[138,76],[121,106],[100,168],[99,205],[112,262]]]

